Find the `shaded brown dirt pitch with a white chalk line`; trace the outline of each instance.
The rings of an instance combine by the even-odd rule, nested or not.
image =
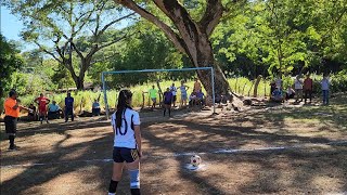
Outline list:
[[[330,106],[269,105],[141,113],[141,192],[192,194],[347,194],[347,95]],[[102,117],[21,122],[8,152],[1,126],[1,195],[106,194],[113,134]],[[203,166],[187,169],[198,154]],[[118,194],[129,193],[128,174]]]

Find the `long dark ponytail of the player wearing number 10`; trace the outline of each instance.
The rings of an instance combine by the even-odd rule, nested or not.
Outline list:
[[[121,127],[121,115],[126,112],[127,108],[130,108],[129,100],[132,98],[130,90],[121,90],[118,96],[117,112],[116,112],[116,128]]]

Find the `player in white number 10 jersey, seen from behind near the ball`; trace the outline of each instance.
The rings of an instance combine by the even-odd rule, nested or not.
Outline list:
[[[132,93],[121,90],[117,104],[117,112],[112,115],[111,123],[114,132],[113,174],[108,186],[108,195],[115,195],[123,169],[126,168],[130,176],[131,195],[140,195],[140,158],[141,131],[140,116],[131,105]],[[125,164],[126,162],[126,164]]]

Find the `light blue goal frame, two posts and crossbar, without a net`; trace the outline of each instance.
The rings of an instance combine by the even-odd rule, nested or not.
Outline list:
[[[110,119],[110,108],[107,102],[107,93],[106,93],[106,84],[105,84],[105,76],[106,75],[117,75],[117,74],[130,74],[130,73],[163,73],[163,72],[191,72],[191,70],[210,70],[210,78],[211,78],[211,98],[213,98],[213,106],[214,113],[216,113],[216,105],[215,105],[215,70],[213,67],[195,67],[195,68],[177,68],[177,69],[139,69],[139,70],[117,70],[117,72],[102,72],[101,80],[102,80],[102,89],[104,93],[104,102],[105,102],[105,109],[106,109],[106,117]]]

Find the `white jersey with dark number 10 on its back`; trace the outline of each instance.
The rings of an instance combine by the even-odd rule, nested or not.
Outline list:
[[[116,128],[116,113],[114,113],[111,117],[111,123],[115,130],[115,147],[137,148],[134,129],[132,129],[132,126],[140,126],[140,116],[138,112],[127,108],[126,112],[121,114],[120,128]]]

